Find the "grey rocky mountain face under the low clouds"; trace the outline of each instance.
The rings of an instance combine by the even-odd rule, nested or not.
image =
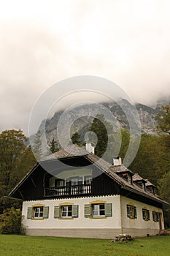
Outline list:
[[[80,132],[81,140],[84,140],[85,132],[88,132],[90,124],[93,122],[93,118],[98,113],[104,113],[104,117],[110,124],[112,124],[113,129],[119,128],[130,129],[129,123],[132,124],[133,129],[139,130],[141,125],[141,131],[143,133],[155,134],[155,116],[163,105],[163,100],[159,101],[154,107],[136,103],[132,105],[126,99],[120,99],[118,104],[116,102],[102,102],[101,109],[98,110],[98,105],[79,105],[77,108],[71,108],[68,110],[59,110],[54,114],[54,116],[46,121],[43,120],[39,127],[39,132],[42,132],[42,127],[45,124],[47,143],[49,143],[53,138],[58,140],[57,136],[57,125],[61,133],[68,134],[72,137],[74,132]],[[125,111],[123,111],[125,110]],[[139,114],[139,121],[137,120],[136,110]],[[113,119],[110,119],[110,116]],[[127,118],[128,116],[128,118]],[[110,121],[111,120],[111,121]],[[65,139],[68,140],[66,137]]]

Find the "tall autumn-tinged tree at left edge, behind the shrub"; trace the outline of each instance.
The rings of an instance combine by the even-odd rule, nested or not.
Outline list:
[[[20,200],[8,199],[9,192],[34,165],[31,148],[26,146],[26,136],[15,129],[0,134],[0,213],[13,205],[20,207]]]

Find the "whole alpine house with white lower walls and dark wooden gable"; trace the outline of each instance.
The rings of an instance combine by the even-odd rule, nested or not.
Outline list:
[[[37,165],[10,192],[23,200],[30,236],[114,238],[120,233],[154,236],[164,229],[155,186],[116,157],[113,164],[77,147]]]

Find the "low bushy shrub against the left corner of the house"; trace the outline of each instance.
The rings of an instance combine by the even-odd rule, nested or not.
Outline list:
[[[20,209],[8,208],[0,217],[0,233],[23,234],[22,214]]]

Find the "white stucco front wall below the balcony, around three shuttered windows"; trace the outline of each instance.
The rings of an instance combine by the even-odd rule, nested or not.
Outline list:
[[[106,203],[112,203],[112,217],[100,219],[90,219],[84,217],[85,204],[101,200]],[[58,219],[54,218],[54,207],[60,203],[74,203],[79,206],[79,217],[73,219]],[[47,219],[27,219],[27,208],[36,204],[49,206],[49,217]],[[72,199],[54,199],[54,200],[31,200],[23,202],[23,225],[26,228],[121,228],[120,220],[120,196],[106,197],[82,197]]]

